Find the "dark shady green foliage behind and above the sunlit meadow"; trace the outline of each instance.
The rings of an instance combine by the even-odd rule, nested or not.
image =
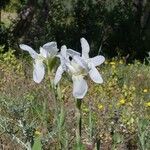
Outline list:
[[[15,0],[4,4],[18,17],[3,31],[1,45],[20,43],[36,49],[56,40],[80,51],[80,38],[91,45],[91,55],[127,56],[143,60],[150,49],[150,3],[135,0]],[[4,7],[2,7],[4,8]],[[7,40],[6,40],[7,39]],[[8,48],[8,46],[6,46]],[[19,53],[20,50],[18,50]]]

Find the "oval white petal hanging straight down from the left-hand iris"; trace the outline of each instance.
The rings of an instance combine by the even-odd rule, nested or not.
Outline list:
[[[45,66],[43,62],[39,60],[35,60],[34,70],[33,70],[33,80],[36,83],[40,83],[44,78],[44,74],[45,74]]]

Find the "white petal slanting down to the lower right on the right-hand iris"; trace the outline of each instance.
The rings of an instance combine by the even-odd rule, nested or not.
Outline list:
[[[103,79],[95,67],[92,67],[92,69],[90,69],[89,75],[95,83],[103,83]]]

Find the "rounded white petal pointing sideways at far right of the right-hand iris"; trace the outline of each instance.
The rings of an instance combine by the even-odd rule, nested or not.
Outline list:
[[[101,65],[104,61],[105,61],[105,57],[101,55],[90,58],[90,62],[92,62],[95,67]]]

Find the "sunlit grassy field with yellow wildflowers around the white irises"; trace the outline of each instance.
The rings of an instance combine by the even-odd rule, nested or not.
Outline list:
[[[87,78],[81,149],[149,150],[150,66],[116,58],[106,60],[99,71],[103,84]],[[34,150],[77,149],[68,76],[57,90],[55,99],[48,74],[40,84],[32,80],[30,59],[17,59],[12,50],[0,54],[0,149],[21,150],[27,143]]]

